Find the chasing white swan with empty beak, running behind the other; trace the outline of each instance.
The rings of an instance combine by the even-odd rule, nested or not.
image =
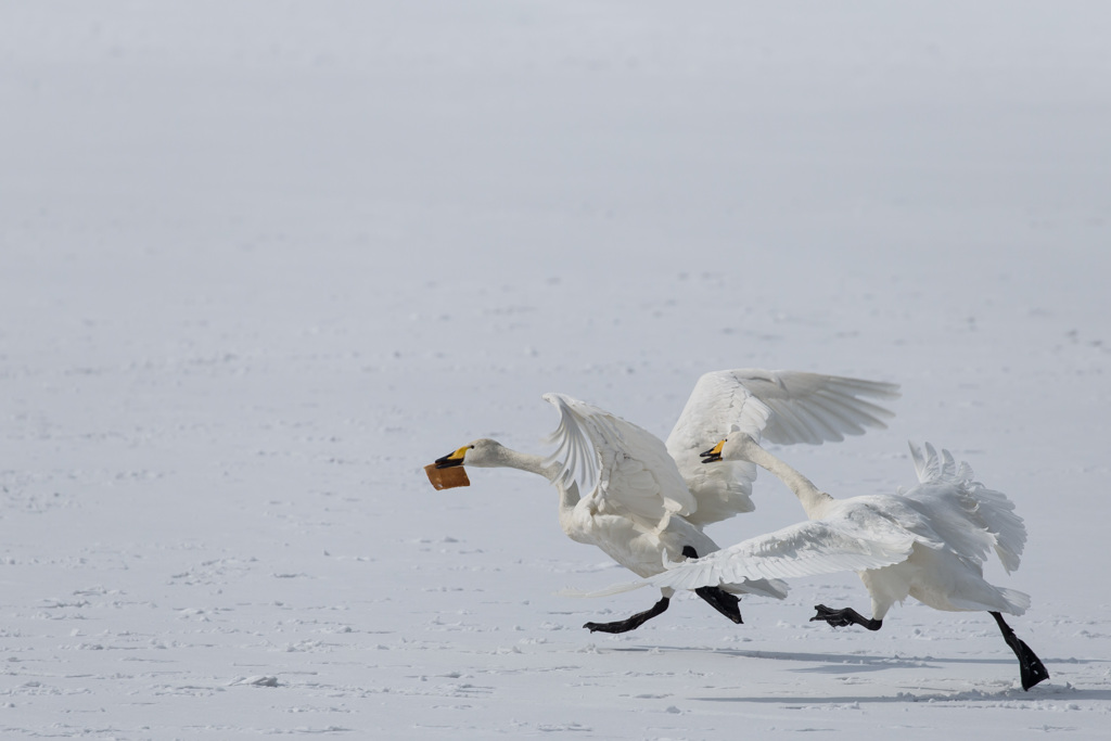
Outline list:
[[[744,574],[788,577],[792,568],[802,575],[812,572],[812,561],[828,561],[825,565],[831,568],[851,561],[847,553],[851,554],[852,545],[847,541],[855,541],[862,553],[880,560],[892,558],[885,565],[852,569],[872,598],[872,617],[864,618],[852,608],[833,610],[819,604],[812,621],[879,630],[891,605],[908,595],[935,610],[983,610],[994,618],[1018,658],[1022,689],[1029,690],[1048,679],[1049,672],[1002,613],[1021,615],[1030,607],[1030,597],[983,578],[989,549],[1008,573],[1018,569],[1027,541],[1022,519],[1014,514],[1014,504],[1005,494],[974,481],[968,463],[958,467],[949,451],[939,455],[929,443],[924,454],[913,444],[910,449],[918,485],[895,494],[838,500],[761,448],[752,435],[730,434],[705,451],[704,460],[744,460],[767,469],[794,492],[810,521],[764,537],[768,542],[751,539],[674,564],[645,583],[694,589]]]

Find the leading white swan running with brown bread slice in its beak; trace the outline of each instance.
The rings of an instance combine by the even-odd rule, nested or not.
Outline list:
[[[559,522],[575,542],[597,545],[639,577],[664,570],[665,561],[719,549],[702,528],[754,505],[755,468],[735,461],[707,470],[699,451],[730,429],[761,432],[782,443],[841,440],[869,427],[885,427],[891,412],[865,398],[893,399],[898,385],[800,371],[738,369],[702,375],[667,443],[647,430],[561,393],[543,399],[560,414],[549,437],[550,457],[522,453],[480,439],[436,460],[437,468],[513,468],[542,475],[559,492]],[[584,493],[583,493],[584,492]],[[778,579],[692,588],[734,623],[742,622],[737,594],[787,595]],[[634,630],[668,609],[674,590],[661,587],[650,609],[613,622],[588,622],[591,632]]]

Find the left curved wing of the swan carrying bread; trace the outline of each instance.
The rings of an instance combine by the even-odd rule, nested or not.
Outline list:
[[[549,438],[557,445],[552,459],[562,462],[560,481],[575,482],[597,511],[662,529],[670,514],[685,515],[698,507],[659,438],[571,397],[543,398],[560,413]]]

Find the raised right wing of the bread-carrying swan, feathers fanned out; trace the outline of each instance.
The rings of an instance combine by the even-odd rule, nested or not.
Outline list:
[[[780,444],[821,444],[887,427],[893,413],[865,399],[895,399],[894,383],[801,371],[740,368],[705,373],[668,437],[687,485],[698,500],[688,520],[704,525],[751,512],[755,465],[747,461],[702,464],[699,457],[730,432],[740,431]]]

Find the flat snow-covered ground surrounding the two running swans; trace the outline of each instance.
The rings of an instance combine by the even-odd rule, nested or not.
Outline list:
[[[1015,739],[1111,724],[1111,11],[1099,2],[0,6],[0,734]],[[703,371],[902,384],[778,452],[968,460],[1012,621],[852,574],[697,600],[554,491],[562,391],[664,435]],[[802,518],[778,482],[721,543]],[[607,618],[610,615],[610,618]]]

